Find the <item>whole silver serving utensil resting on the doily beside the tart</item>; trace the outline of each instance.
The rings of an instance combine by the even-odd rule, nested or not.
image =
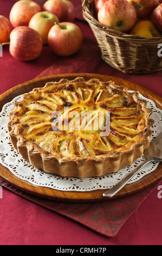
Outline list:
[[[144,162],[133,172],[121,180],[117,185],[103,193],[103,197],[112,198],[123,188],[133,176],[141,170],[148,162],[162,162],[162,132],[150,143],[150,146],[144,150]]]

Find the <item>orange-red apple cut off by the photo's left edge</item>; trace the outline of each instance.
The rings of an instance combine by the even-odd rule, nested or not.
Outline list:
[[[3,42],[8,42],[11,33],[11,25],[9,20],[0,15],[0,44]]]

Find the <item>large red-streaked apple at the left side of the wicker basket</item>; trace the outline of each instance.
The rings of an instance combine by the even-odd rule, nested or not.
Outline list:
[[[135,25],[137,11],[126,0],[109,0],[99,9],[98,20],[116,31],[128,32]]]

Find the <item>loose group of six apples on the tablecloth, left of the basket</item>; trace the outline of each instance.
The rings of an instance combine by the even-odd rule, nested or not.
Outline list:
[[[73,23],[75,8],[68,0],[48,0],[43,8],[31,0],[16,2],[9,19],[0,15],[0,44],[9,44],[18,60],[40,56],[43,45],[59,56],[76,53],[82,44],[81,29]]]

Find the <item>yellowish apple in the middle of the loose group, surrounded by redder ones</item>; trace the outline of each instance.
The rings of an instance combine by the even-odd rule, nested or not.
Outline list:
[[[43,45],[46,45],[48,44],[48,33],[55,22],[60,22],[55,14],[49,13],[49,11],[41,11],[31,18],[29,28],[33,28],[40,33]]]

